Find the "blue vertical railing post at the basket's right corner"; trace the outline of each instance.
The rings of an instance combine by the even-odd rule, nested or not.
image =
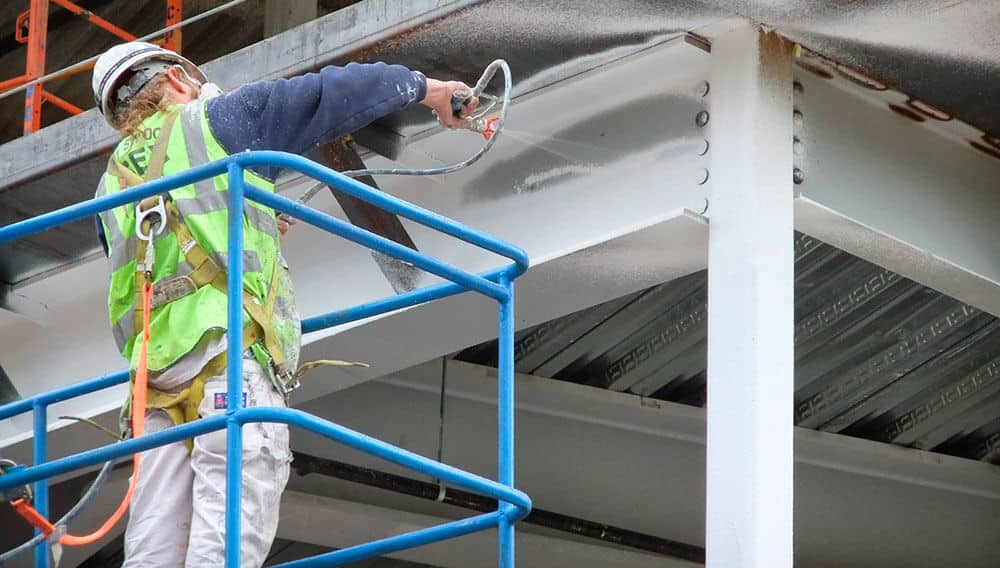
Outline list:
[[[497,394],[499,466],[498,481],[514,487],[514,283],[504,274],[499,284],[507,290],[507,297],[500,302],[499,335],[497,345]],[[501,502],[500,512],[509,505]],[[514,568],[514,524],[507,515],[500,517],[497,527],[500,543],[500,568]]]

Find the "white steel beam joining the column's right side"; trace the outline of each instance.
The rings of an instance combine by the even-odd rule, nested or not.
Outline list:
[[[945,132],[960,125],[893,112],[899,93],[796,78],[796,229],[1000,315],[1000,159]]]

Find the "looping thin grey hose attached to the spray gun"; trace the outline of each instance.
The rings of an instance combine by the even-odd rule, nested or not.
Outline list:
[[[485,89],[486,85],[488,85],[490,80],[493,79],[493,76],[496,74],[498,69],[503,70],[503,77],[504,77],[503,95],[498,98],[500,105],[500,117],[499,120],[495,123],[495,126],[493,126],[493,128],[495,128],[495,131],[490,136],[487,137],[486,143],[483,144],[483,146],[479,149],[479,151],[473,154],[472,156],[469,156],[467,159],[458,162],[456,164],[452,164],[450,166],[442,166],[439,168],[420,168],[420,169],[368,168],[364,170],[349,170],[340,173],[352,178],[357,178],[362,176],[381,176],[381,175],[436,176],[442,174],[450,174],[452,172],[456,172],[463,168],[467,168],[472,164],[478,162],[479,159],[482,158],[483,155],[486,154],[486,152],[489,152],[490,148],[492,148],[493,145],[496,144],[497,137],[500,135],[500,131],[503,130],[503,125],[507,121],[507,107],[510,105],[510,91],[511,91],[510,67],[507,65],[507,62],[504,61],[503,59],[497,59],[493,63],[490,63],[486,67],[486,70],[483,72],[483,75],[479,78],[479,81],[476,83],[476,86],[473,87],[472,92],[462,93],[461,98],[456,97],[457,101],[460,101],[457,103],[457,109],[460,110],[461,106],[464,104],[465,101],[473,97],[479,97],[483,94],[483,89]],[[483,132],[483,129],[487,127],[487,121],[485,119],[485,115],[488,114],[490,110],[492,110],[495,106],[496,104],[491,104],[481,111],[477,110],[473,114],[473,116],[466,119],[468,124],[467,128],[475,132]],[[303,193],[302,197],[299,197],[298,202],[306,203],[307,201],[315,197],[316,194],[319,193],[319,191],[324,187],[326,187],[325,184],[319,184],[316,185],[315,187],[312,187],[311,189]]]

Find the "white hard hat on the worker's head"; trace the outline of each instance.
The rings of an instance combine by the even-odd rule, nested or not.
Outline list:
[[[105,51],[97,59],[97,63],[94,64],[94,78],[92,81],[94,102],[97,104],[97,108],[100,109],[101,114],[104,115],[105,120],[112,126],[115,125],[114,110],[115,104],[119,101],[118,91],[122,87],[122,79],[129,76],[130,71],[134,74],[138,70],[136,69],[137,66],[147,62],[163,62],[168,65],[177,64],[199,83],[208,81],[208,78],[201,72],[201,69],[198,69],[197,65],[169,49],[142,41],[116,45]],[[147,67],[150,67],[149,71],[159,72],[162,70],[156,66]],[[156,74],[155,72],[150,74],[147,80],[151,79]],[[141,88],[140,85],[132,89],[131,94],[134,95]]]

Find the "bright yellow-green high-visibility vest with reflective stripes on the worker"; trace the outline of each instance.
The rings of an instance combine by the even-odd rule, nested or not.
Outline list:
[[[205,102],[199,99],[186,105],[173,105],[144,120],[134,136],[126,137],[115,148],[108,171],[101,178],[97,196],[113,194],[146,179],[151,161],[156,161],[152,153],[161,132],[166,132],[169,137],[166,154],[156,164],[156,167],[162,166],[162,176],[225,158],[228,154],[209,127]],[[274,191],[272,182],[249,170],[245,172],[244,179],[257,188]],[[206,253],[223,270],[228,255],[227,189],[227,176],[222,174],[169,192],[172,210],[179,213],[183,220],[182,232],[189,233],[199,251]],[[250,306],[257,310],[253,319],[268,320],[278,342],[284,347],[270,348],[269,351],[284,351],[272,355],[278,360],[284,360],[287,355],[290,359],[288,370],[294,371],[301,332],[294,315],[287,269],[281,265],[275,213],[250,201],[245,203],[243,212],[244,303],[256,304]],[[131,362],[133,369],[139,352],[140,331],[136,326],[137,250],[142,248],[136,238],[135,217],[135,204],[116,207],[101,214],[112,270],[108,292],[111,326],[119,350]],[[183,231],[185,228],[186,231]],[[224,286],[220,289],[204,282],[194,285],[193,280],[187,277],[198,269],[189,263],[192,243],[184,245],[187,251],[182,250],[177,232],[169,229],[160,232],[154,243],[152,275],[155,299],[150,317],[149,344],[149,369],[153,373],[166,369],[191,352],[206,333],[223,331],[227,327]],[[276,294],[270,293],[273,286],[277,287]],[[266,308],[268,313],[260,313],[262,308]],[[247,323],[250,322],[250,315],[244,313]]]

